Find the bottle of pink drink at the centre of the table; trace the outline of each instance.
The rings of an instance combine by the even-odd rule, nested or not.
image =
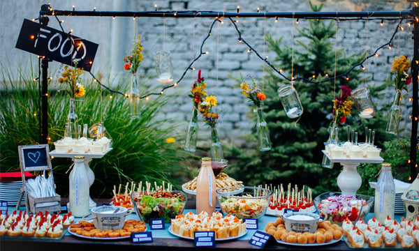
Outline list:
[[[202,158],[201,168],[198,178],[196,179],[196,213],[202,211],[209,215],[215,211],[215,176],[212,171],[212,159],[208,157]]]

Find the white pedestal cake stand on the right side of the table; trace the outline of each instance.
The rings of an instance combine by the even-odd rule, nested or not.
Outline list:
[[[360,189],[362,185],[362,178],[360,174],[358,174],[358,170],[356,167],[360,165],[360,163],[381,163],[383,162],[383,158],[359,158],[359,159],[352,159],[352,158],[332,158],[330,155],[325,153],[325,150],[322,151],[331,162],[339,162],[341,165],[344,166],[344,169],[341,171],[339,176],[337,176],[337,186],[342,192],[342,195],[354,196],[358,189]]]

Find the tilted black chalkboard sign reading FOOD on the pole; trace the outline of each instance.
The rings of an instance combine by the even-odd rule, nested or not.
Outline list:
[[[68,66],[77,60],[79,68],[90,71],[98,44],[25,19],[16,48]]]

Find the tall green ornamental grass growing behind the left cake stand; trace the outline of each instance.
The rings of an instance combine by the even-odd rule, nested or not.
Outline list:
[[[1,172],[19,171],[17,146],[38,144],[38,86],[32,79],[36,71],[27,73],[20,69],[19,75],[11,76],[8,70],[1,68],[0,99],[0,168]],[[82,76],[87,79],[86,76]],[[112,79],[103,79],[110,83]],[[89,167],[94,171],[95,181],[91,186],[91,197],[112,197],[114,185],[134,181],[166,181],[175,188],[180,188],[188,175],[183,151],[179,142],[184,138],[178,135],[173,121],[158,119],[156,116],[164,105],[170,105],[174,95],[153,96],[144,100],[140,119],[130,119],[128,100],[121,95],[113,95],[94,82],[86,83],[86,96],[76,102],[79,124],[103,122],[108,137],[112,139],[113,150],[101,159],[93,159]],[[125,87],[124,87],[125,86]],[[52,89],[61,89],[57,82],[50,82],[48,100],[48,132],[50,151],[52,142],[64,135],[64,125],[68,114],[68,93],[57,93]],[[126,91],[129,84],[119,82],[113,89]],[[143,90],[145,92],[145,90]],[[155,97],[155,98],[154,98]],[[168,137],[174,137],[175,143],[167,143]],[[52,159],[54,180],[57,192],[68,195],[68,175],[72,165],[70,158]]]

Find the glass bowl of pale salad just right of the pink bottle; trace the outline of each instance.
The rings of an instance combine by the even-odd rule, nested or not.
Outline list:
[[[258,219],[265,215],[272,191],[252,186],[218,188],[216,199],[224,215]]]

